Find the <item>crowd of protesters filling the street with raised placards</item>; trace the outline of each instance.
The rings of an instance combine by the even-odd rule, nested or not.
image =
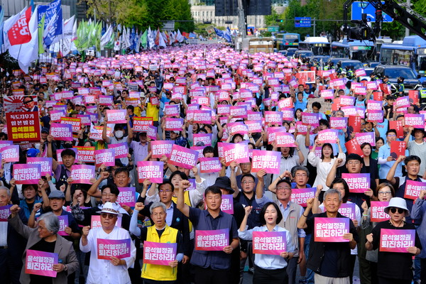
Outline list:
[[[86,62],[60,58],[28,75],[4,71],[1,142],[18,143],[6,119],[12,97],[21,98],[24,113],[38,111],[40,141],[21,143],[18,161],[3,156],[1,163],[0,209],[7,213],[0,220],[1,282],[236,284],[248,272],[256,284],[340,284],[353,283],[358,258],[363,284],[426,283],[425,117],[421,125],[408,122],[426,111],[403,85],[344,71],[224,45]],[[101,96],[111,103],[100,103]],[[172,114],[173,105],[178,111]],[[118,109],[126,109],[126,123],[109,123],[108,110]],[[80,124],[70,141],[59,139],[51,129],[60,122],[53,119],[58,110],[89,116],[89,124]],[[197,120],[200,110],[211,112],[209,121]],[[138,117],[149,118],[154,133],[138,129]],[[176,119],[180,130],[170,127]],[[346,122],[336,127],[337,119]],[[290,133],[288,145],[275,139],[283,133]],[[322,133],[334,133],[334,141]],[[200,134],[208,139],[196,140]],[[170,153],[153,158],[153,141],[196,150],[199,160],[178,165]],[[405,142],[398,143],[402,152],[395,154],[394,141]],[[95,165],[79,160],[75,147],[98,151],[120,143],[128,149],[124,157],[97,165],[89,183],[75,182],[74,165]],[[227,160],[224,149],[234,144],[249,157]],[[279,153],[275,173],[259,169],[254,153]],[[13,169],[34,157],[51,158],[50,173],[33,184],[18,180]],[[217,160],[219,168],[205,170],[202,157]],[[143,161],[162,163],[163,182],[139,178]],[[359,174],[369,174],[368,186],[354,190],[348,177]],[[136,188],[133,206],[118,201],[126,187]],[[312,195],[297,195],[303,190]],[[221,209],[225,196],[231,196],[231,213]],[[371,202],[384,202],[387,219],[375,221]],[[341,213],[351,206],[351,217]],[[65,227],[58,217],[67,218]],[[340,241],[317,239],[318,222],[327,218],[347,219]],[[411,239],[399,251],[384,250],[383,230],[399,236],[402,229]],[[224,246],[200,249],[197,231],[224,232],[218,241]],[[254,236],[271,232],[285,233],[285,250],[257,252]],[[101,257],[101,239],[129,239],[129,253]],[[176,244],[175,256],[161,265],[145,261],[149,242]],[[55,276],[29,272],[32,251],[58,255],[50,267]]]

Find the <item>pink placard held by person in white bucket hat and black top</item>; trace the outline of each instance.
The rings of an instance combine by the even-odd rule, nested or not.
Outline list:
[[[378,251],[408,253],[407,248],[415,244],[415,229],[381,229]]]

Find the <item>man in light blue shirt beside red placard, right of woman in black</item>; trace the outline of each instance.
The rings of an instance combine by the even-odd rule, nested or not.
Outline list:
[[[395,159],[391,156],[391,141],[396,141],[396,130],[389,129],[386,131],[386,143],[378,149],[378,164],[381,165],[378,170],[378,178],[386,179],[386,176],[391,170],[393,164],[395,163]],[[403,176],[403,167],[400,163],[398,163],[395,168],[395,176],[402,177]]]

